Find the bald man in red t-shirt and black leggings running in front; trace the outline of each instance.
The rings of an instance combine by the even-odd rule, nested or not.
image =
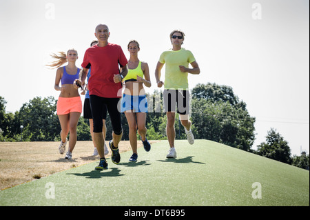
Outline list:
[[[82,85],[84,83],[91,66],[92,74],[88,81],[88,89],[90,90],[90,106],[94,121],[94,143],[100,156],[99,166],[96,166],[95,169],[105,170],[107,169],[107,161],[105,161],[103,150],[105,140],[102,134],[102,112],[104,108],[107,108],[110,115],[113,139],[109,146],[112,150],[112,161],[118,164],[121,160],[118,143],[121,141],[123,129],[121,112],[118,111],[117,106],[121,98],[121,80],[126,76],[128,69],[127,59],[121,46],[107,42],[110,37],[109,28],[106,25],[99,24],[96,26],[95,36],[99,43],[86,50],[80,79],[74,81],[74,86],[77,88],[76,84]],[[121,73],[119,68],[122,69]]]

